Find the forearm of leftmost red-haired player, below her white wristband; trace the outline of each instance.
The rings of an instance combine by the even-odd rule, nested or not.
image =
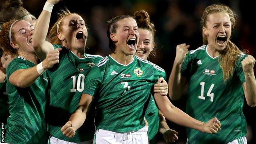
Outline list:
[[[9,82],[16,87],[26,88],[32,85],[39,76],[37,66],[19,69],[10,75]]]

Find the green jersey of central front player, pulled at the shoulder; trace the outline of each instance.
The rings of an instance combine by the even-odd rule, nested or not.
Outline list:
[[[159,75],[152,64],[135,55],[126,66],[110,55],[103,58],[88,74],[83,92],[95,97],[96,128],[117,133],[143,128]]]

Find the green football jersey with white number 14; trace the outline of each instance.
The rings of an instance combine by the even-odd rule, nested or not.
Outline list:
[[[203,122],[217,117],[222,128],[214,135],[187,128],[188,144],[226,144],[246,136],[247,131],[242,112],[245,75],[241,64],[247,55],[238,55],[233,77],[225,83],[218,57],[211,57],[207,47],[191,50],[182,64],[181,75],[189,83],[186,112]]]

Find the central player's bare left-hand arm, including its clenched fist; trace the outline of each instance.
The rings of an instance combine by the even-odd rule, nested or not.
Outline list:
[[[69,121],[61,128],[63,135],[66,135],[66,137],[73,137],[75,135],[75,131],[78,130],[78,128],[80,128],[85,122],[93,100],[93,96],[82,94],[78,109],[71,115]]]

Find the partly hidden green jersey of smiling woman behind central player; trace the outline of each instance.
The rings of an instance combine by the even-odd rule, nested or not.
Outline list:
[[[165,70],[159,67],[156,64],[152,64],[160,73],[160,77],[163,77],[166,80],[166,73]],[[158,114],[158,107],[156,106],[156,103],[154,101],[154,93],[150,94],[151,99],[149,100],[149,106],[146,109],[146,120],[149,124],[149,131],[148,136],[149,140],[153,139],[153,137],[158,133],[159,130],[159,114]]]

